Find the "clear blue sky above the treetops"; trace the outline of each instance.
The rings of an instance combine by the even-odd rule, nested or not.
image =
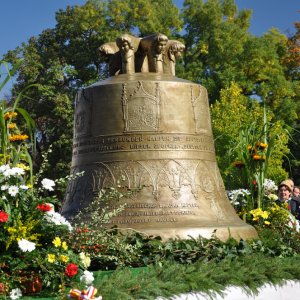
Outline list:
[[[174,1],[179,7],[183,0]],[[8,50],[27,42],[46,28],[55,26],[55,12],[67,5],[83,5],[85,0],[0,0],[0,58]],[[262,35],[270,28],[294,32],[300,20],[299,0],[236,0],[239,9],[252,9],[250,32]]]

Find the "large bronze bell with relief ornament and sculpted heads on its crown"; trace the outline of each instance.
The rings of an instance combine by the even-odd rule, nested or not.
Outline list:
[[[163,34],[125,34],[99,50],[111,77],[77,94],[71,172],[85,174],[69,185],[63,215],[71,219],[123,178],[125,187],[142,188],[120,202],[126,208],[109,227],[164,240],[256,237],[227,198],[206,89],[175,77],[184,45]]]

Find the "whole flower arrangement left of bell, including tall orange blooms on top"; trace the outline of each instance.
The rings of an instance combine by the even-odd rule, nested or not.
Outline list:
[[[53,191],[64,180],[42,179],[42,170],[33,174],[35,124],[18,107],[20,97],[13,107],[0,103],[0,297],[66,295],[80,284],[88,257],[69,247],[73,228],[55,212]]]

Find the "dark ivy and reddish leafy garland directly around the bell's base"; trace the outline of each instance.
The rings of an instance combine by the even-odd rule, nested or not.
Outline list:
[[[299,253],[299,233],[288,226],[288,212],[277,209],[270,213],[271,225],[264,222],[251,221],[256,226],[261,240],[236,241],[228,239],[226,242],[215,236],[211,239],[173,239],[161,241],[159,237],[147,236],[139,232],[126,232],[118,229],[107,230],[97,227],[77,227],[71,233],[69,243],[74,251],[84,251],[91,257],[92,270],[116,269],[117,267],[141,267],[151,264],[161,265],[164,261],[181,264],[194,264],[198,261],[222,261],[224,259],[238,259],[239,257],[264,253],[270,256],[294,256]],[[253,212],[253,220],[262,216]],[[249,214],[250,218],[250,214]],[[252,220],[252,217],[251,217]],[[249,219],[250,221],[250,219]],[[273,232],[276,241],[270,241]],[[280,237],[277,240],[277,237]]]

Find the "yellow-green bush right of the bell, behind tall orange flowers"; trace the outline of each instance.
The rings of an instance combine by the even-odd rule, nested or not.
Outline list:
[[[212,126],[225,186],[229,189],[250,188],[254,196],[254,180],[261,190],[264,178],[275,182],[287,178],[282,163],[289,153],[289,132],[282,121],[274,120],[270,111],[264,121],[261,103],[249,100],[241,92],[236,83],[221,91],[220,101],[211,107]],[[256,146],[260,143],[267,143],[265,150]],[[260,159],[254,160],[254,157]]]

